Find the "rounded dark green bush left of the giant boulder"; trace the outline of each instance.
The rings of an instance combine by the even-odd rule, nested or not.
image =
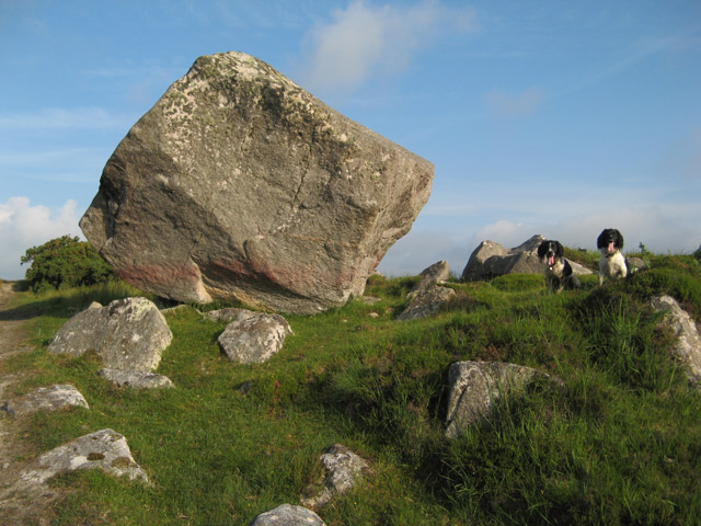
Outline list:
[[[35,291],[94,285],[116,278],[113,268],[85,241],[61,236],[32,247],[20,259],[28,264],[25,278]]]

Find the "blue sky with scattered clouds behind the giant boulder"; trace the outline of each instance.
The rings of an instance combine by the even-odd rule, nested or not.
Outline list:
[[[0,0],[0,277],[70,233],[119,140],[202,55],[265,60],[435,165],[380,263],[480,241],[701,244],[701,2]]]

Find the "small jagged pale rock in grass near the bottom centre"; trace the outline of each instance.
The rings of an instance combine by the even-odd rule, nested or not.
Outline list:
[[[368,464],[358,455],[342,446],[334,444],[321,456],[324,472],[320,481],[308,489],[309,493],[321,485],[321,490],[313,496],[302,499],[301,504],[314,510],[325,506],[331,500],[350,490],[364,474],[370,473]]]

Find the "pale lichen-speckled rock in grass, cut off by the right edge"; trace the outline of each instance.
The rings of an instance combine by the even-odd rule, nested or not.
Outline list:
[[[671,296],[653,298],[651,304],[656,311],[665,312],[663,325],[677,338],[671,354],[683,364],[689,381],[701,386],[701,335],[696,321]]]

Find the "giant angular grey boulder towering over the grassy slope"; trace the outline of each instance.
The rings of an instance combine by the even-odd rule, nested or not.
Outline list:
[[[267,64],[198,58],[107,161],[83,233],[135,286],[314,313],[365,289],[433,165]]]

